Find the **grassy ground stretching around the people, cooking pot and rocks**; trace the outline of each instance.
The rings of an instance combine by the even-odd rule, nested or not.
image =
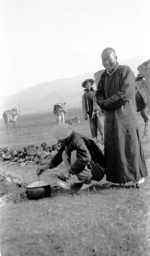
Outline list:
[[[83,120],[81,110],[70,110],[67,118],[76,114],[81,123],[75,125],[74,130],[90,136],[89,124]],[[144,123],[139,115],[138,121],[142,135]],[[16,149],[44,141],[55,144],[54,122],[53,115],[49,114],[22,116],[18,118],[18,134],[9,137],[1,122],[0,144]],[[149,172],[150,135],[143,142],[143,150]],[[36,180],[36,166],[31,163],[2,167],[28,184]],[[104,178],[95,183],[96,192],[78,196],[53,183],[51,173],[59,173],[63,168],[61,164],[42,174],[42,180],[51,184],[50,198],[20,200],[19,188],[10,194],[12,202],[9,200],[0,209],[1,255],[150,256],[149,178],[140,188],[108,189],[102,186]]]

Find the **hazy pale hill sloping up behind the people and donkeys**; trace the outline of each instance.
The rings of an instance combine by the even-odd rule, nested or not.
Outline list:
[[[145,57],[137,56],[120,61],[119,64],[130,66],[136,76],[138,74],[137,67],[144,61],[146,61]],[[57,102],[66,102],[68,109],[80,108],[84,90],[81,84],[87,78],[94,78],[94,73],[97,71],[37,84],[14,95],[5,96],[1,100],[0,118],[2,118],[4,110],[11,109],[15,105],[19,105],[21,114],[51,112]],[[94,88],[96,88],[95,85]]]

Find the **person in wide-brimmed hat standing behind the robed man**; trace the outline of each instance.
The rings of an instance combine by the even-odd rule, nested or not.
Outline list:
[[[101,134],[100,142],[103,144],[103,112],[95,101],[95,90],[93,89],[94,79],[88,78],[82,82],[82,87],[85,88],[82,96],[82,111],[84,119],[90,123],[92,138],[99,142],[98,131]]]

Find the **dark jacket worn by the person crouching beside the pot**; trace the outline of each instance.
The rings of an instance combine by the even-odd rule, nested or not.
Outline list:
[[[97,164],[101,166],[104,171],[104,154],[97,144],[90,138],[78,133],[72,132],[67,139],[66,145],[62,146],[56,156],[48,162],[49,168],[54,168],[62,162],[62,152],[65,150],[68,161],[70,162],[71,152],[77,151],[77,160],[71,165],[71,173],[78,174],[84,170],[86,165],[90,162],[90,168],[93,179],[97,177]],[[97,179],[95,179],[97,180]]]

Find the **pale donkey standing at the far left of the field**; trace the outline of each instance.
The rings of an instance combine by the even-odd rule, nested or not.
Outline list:
[[[18,133],[16,127],[17,116],[20,115],[19,106],[15,106],[11,110],[6,110],[3,113],[3,118],[7,127],[8,135],[10,135],[10,122],[12,122],[14,133]]]

